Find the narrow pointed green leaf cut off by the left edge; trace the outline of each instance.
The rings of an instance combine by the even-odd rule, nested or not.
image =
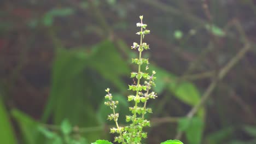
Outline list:
[[[11,122],[3,104],[2,97],[0,95],[0,141],[1,143],[15,144],[16,139],[14,135]]]

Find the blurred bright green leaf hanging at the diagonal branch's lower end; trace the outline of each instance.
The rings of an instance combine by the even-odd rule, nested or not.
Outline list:
[[[202,139],[203,122],[199,117],[191,119],[184,117],[179,119],[178,130],[185,131],[185,135],[190,144],[200,144]]]

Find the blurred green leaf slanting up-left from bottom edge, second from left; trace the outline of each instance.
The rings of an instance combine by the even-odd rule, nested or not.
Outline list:
[[[26,115],[19,110],[11,110],[11,115],[14,117],[15,121],[18,122],[21,134],[24,138],[24,143],[34,144],[34,143],[44,143],[42,140],[42,135],[38,131],[38,123],[34,121],[33,118]]]

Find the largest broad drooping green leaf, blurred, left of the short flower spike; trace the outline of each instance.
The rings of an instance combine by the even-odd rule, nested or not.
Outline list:
[[[53,63],[52,86],[45,107],[43,120],[52,114],[54,124],[61,125],[67,119],[78,127],[95,127],[98,121],[92,99],[103,97],[98,75],[88,67],[90,53],[84,50],[57,49]],[[104,88],[102,88],[104,89]],[[94,101],[93,101],[94,102]],[[88,141],[99,139],[100,131],[83,134]]]

